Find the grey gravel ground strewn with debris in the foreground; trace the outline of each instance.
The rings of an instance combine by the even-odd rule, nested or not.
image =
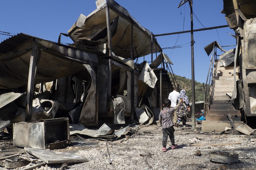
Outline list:
[[[188,122],[191,124],[191,122]],[[199,125],[200,128],[200,125]],[[106,142],[97,139],[80,139],[71,137],[71,144],[55,151],[66,151],[77,154],[88,159],[88,162],[69,164],[70,170],[82,169],[218,169],[222,164],[213,163],[209,160],[209,152],[224,151],[239,154],[239,163],[225,164],[227,169],[256,169],[256,135],[233,134],[201,134],[199,131],[191,131],[191,127],[179,127],[174,132],[177,149],[168,148],[167,152],[162,152],[162,131],[159,126],[134,126],[128,129],[127,135],[131,138],[122,138],[117,141],[108,142],[108,150],[112,165],[110,165],[106,152]],[[191,143],[234,143],[238,145],[226,146],[190,146]],[[10,145],[11,142],[5,142]],[[170,147],[170,139],[167,147]],[[22,152],[21,148],[11,148],[9,154]],[[201,151],[201,156],[195,155],[196,151]],[[5,153],[6,154],[6,153]],[[4,152],[1,152],[1,157]],[[4,161],[0,163],[4,167]],[[61,164],[48,164],[39,167],[39,170],[59,170]],[[18,170],[18,168],[16,169]]]

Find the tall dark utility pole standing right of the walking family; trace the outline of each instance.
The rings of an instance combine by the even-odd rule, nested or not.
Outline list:
[[[189,2],[190,18],[191,18],[191,74],[192,74],[192,130],[195,130],[195,69],[194,69],[194,37],[193,37],[193,9],[192,0],[182,0],[178,8],[186,2]]]

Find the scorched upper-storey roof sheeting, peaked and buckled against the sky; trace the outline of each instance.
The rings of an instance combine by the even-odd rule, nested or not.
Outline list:
[[[109,8],[111,34],[112,34],[112,51],[117,56],[130,58],[131,51],[127,50],[127,44],[131,44],[131,35],[133,50],[137,57],[151,53],[151,33],[139,22],[137,22],[129,12],[113,0],[96,1],[97,9],[88,16],[80,16],[76,23],[69,29],[69,37],[76,42],[80,39],[92,41],[108,41],[106,7]],[[133,34],[131,34],[133,33]],[[153,52],[161,51],[161,47],[152,37]],[[135,48],[136,47],[136,48]]]

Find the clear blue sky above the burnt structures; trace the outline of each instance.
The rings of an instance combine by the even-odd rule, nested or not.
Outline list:
[[[177,8],[180,1],[116,0],[143,27],[155,35],[190,30],[189,4],[187,2],[180,8]],[[95,0],[1,1],[0,31],[11,33],[10,35],[25,33],[57,42],[59,33],[67,33],[80,14],[87,16],[95,9]],[[193,16],[194,29],[227,25],[225,15],[220,13],[222,9],[222,0],[193,0],[193,12],[195,13]],[[217,30],[194,32],[194,67],[195,80],[197,82],[203,83],[207,79],[210,56],[207,56],[204,50],[205,46],[213,41],[218,41],[221,46],[236,45],[236,39],[228,33],[234,34],[234,31],[226,27]],[[0,34],[0,42],[9,37]],[[176,46],[181,45],[181,48],[164,49],[163,52],[174,63],[172,65],[174,74],[191,78],[190,33],[180,34],[179,38],[177,34],[156,38],[162,48],[174,47],[175,44]],[[65,36],[61,37],[61,42],[72,43],[71,39]],[[235,47],[223,48],[224,50],[230,50]],[[220,50],[217,51],[217,55],[222,53]],[[148,59],[151,59],[151,55],[148,56]]]

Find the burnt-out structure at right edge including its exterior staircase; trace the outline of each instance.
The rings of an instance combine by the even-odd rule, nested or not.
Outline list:
[[[230,29],[235,32],[232,36],[236,39],[237,46],[221,54],[219,59],[212,58],[214,71],[211,100],[206,117],[209,121],[202,124],[202,130],[225,128],[227,124],[224,124],[224,121],[228,121],[229,124],[226,116],[228,114],[233,115],[233,120],[243,121],[251,128],[256,128],[256,1],[224,0],[223,4],[222,13],[225,14]],[[210,48],[214,51],[214,46],[220,48],[217,42],[205,48],[208,55],[211,52]],[[221,80],[222,76],[226,76],[226,80]],[[229,82],[227,79],[230,79]],[[223,85],[218,86],[217,81],[223,81]],[[224,90],[228,89],[224,83],[232,83],[231,87],[234,90],[224,92],[229,91]],[[221,90],[218,91],[218,88]]]

